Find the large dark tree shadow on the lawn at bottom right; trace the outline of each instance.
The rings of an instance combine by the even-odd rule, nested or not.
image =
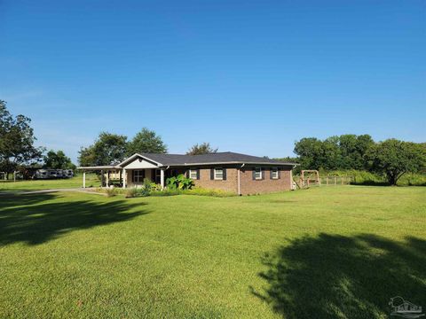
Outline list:
[[[263,258],[252,293],[285,318],[383,318],[391,297],[425,307],[426,241],[374,235],[303,237]]]

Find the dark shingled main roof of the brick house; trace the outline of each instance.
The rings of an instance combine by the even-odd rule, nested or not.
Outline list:
[[[225,163],[245,163],[245,164],[277,164],[296,165],[295,163],[285,163],[276,159],[266,159],[257,156],[240,154],[235,152],[216,152],[203,155],[181,155],[181,154],[157,154],[139,153],[147,159],[152,159],[165,166],[191,165],[191,164],[225,164]]]

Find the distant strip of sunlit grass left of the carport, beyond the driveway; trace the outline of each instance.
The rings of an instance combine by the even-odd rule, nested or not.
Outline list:
[[[95,174],[86,175],[87,187],[99,187],[99,178]],[[77,175],[73,178],[64,178],[57,180],[34,180],[34,181],[0,181],[0,191],[33,191],[47,189],[63,189],[83,187],[83,175]]]

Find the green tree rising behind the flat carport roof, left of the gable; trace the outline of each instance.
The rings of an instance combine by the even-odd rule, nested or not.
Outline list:
[[[81,166],[113,165],[126,157],[127,136],[101,132],[94,144],[82,147],[78,161]]]

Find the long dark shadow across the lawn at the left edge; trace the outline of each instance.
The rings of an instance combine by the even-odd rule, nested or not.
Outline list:
[[[59,201],[48,201],[56,198]],[[129,213],[132,207],[144,204],[125,200],[60,200],[60,195],[52,193],[0,198],[0,245],[38,245],[69,231],[125,222],[149,213],[145,209]]]

